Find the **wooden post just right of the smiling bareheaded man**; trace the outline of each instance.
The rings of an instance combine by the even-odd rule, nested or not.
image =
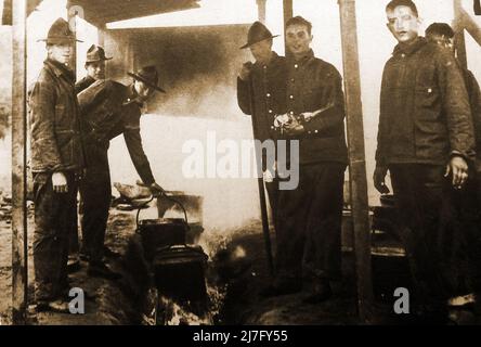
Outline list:
[[[354,224],[358,305],[361,320],[367,322],[368,309],[373,303],[373,283],[355,0],[339,0],[339,12],[348,124],[349,174]]]

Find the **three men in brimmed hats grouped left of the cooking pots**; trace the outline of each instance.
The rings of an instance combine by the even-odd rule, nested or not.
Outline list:
[[[157,86],[158,73],[153,66],[129,73],[130,86],[105,79],[105,61],[109,57],[96,46],[87,53],[88,76],[76,83],[69,66],[77,40],[63,18],[52,25],[44,41],[48,57],[28,99],[35,297],[38,311],[68,312],[68,273],[78,270],[78,258],[88,261],[90,277],[120,278],[106,264],[118,254],[104,245],[112,200],[109,141],[123,134],[143,183],[153,195],[164,193],[155,182],[140,134],[144,102],[155,90],[164,90]],[[78,193],[81,248],[77,232]]]

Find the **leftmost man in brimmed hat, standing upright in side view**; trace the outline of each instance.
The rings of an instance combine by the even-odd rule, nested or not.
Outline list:
[[[37,310],[68,312],[68,230],[77,224],[78,178],[84,168],[75,76],[68,67],[76,39],[58,18],[44,41],[48,57],[29,97],[35,294]]]

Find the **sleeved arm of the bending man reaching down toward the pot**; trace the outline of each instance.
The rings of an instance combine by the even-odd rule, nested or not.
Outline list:
[[[129,115],[135,117],[135,115]],[[140,178],[146,185],[155,183],[154,175],[152,174],[151,164],[145,155],[142,137],[140,133],[140,119],[130,118],[125,125],[123,139],[126,141],[127,149],[132,159],[133,166]]]

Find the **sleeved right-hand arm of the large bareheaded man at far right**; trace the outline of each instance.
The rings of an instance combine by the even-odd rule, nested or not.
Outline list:
[[[438,80],[446,115],[451,153],[472,159],[474,130],[463,73],[452,54],[442,50],[437,53]]]

